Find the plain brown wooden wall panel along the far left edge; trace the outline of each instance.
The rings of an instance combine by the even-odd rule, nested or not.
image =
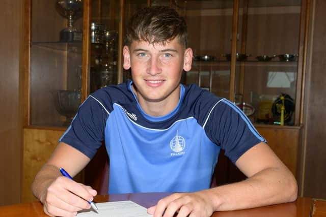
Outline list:
[[[0,205],[20,202],[19,40],[21,0],[0,7]]]

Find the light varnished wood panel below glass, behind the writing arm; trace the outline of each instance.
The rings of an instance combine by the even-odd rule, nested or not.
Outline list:
[[[51,156],[63,131],[24,129],[22,202],[35,201],[31,185],[36,173]]]

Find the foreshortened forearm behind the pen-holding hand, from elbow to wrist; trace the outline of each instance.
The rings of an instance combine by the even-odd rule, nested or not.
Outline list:
[[[61,173],[56,166],[45,164],[32,183],[33,195],[43,203],[47,187],[59,176]]]

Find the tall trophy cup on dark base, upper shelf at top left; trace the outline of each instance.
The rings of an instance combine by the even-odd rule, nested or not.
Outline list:
[[[73,27],[73,19],[79,17],[83,11],[83,0],[57,0],[60,14],[68,19],[68,27],[60,32],[61,42],[82,41],[83,33]]]

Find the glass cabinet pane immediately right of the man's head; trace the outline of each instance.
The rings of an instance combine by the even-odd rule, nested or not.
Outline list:
[[[229,98],[233,1],[184,1],[193,68],[185,83],[197,83]]]

